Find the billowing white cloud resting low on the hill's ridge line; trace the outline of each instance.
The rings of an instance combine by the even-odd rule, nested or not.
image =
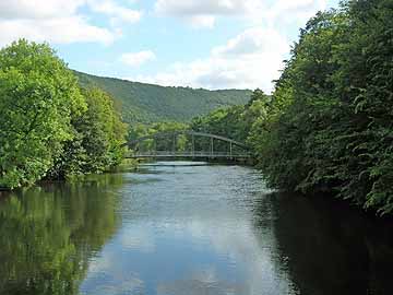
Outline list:
[[[263,27],[245,31],[227,44],[213,48],[209,58],[175,63],[167,71],[134,80],[162,85],[207,88],[272,91],[279,76],[289,43],[278,32]],[[131,79],[132,80],[132,79]]]

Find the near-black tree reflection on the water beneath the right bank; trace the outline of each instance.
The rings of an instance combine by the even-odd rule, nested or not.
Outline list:
[[[337,201],[272,193],[259,201],[255,226],[271,224],[299,294],[393,294],[393,223]]]

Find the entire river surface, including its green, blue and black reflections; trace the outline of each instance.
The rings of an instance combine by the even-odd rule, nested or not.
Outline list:
[[[2,197],[0,294],[393,294],[390,221],[189,164]]]

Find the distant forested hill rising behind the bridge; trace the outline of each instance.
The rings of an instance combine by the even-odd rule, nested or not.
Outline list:
[[[119,102],[127,122],[188,121],[223,106],[246,104],[251,95],[247,90],[164,87],[76,71],[75,74],[82,86],[98,86]]]

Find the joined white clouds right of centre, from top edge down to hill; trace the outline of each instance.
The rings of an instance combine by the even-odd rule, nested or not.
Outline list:
[[[206,58],[177,62],[154,75],[134,80],[162,85],[207,88],[273,90],[291,40],[284,27],[301,26],[326,0],[157,0],[159,15],[179,17],[194,27],[214,27],[219,16],[243,17],[250,28],[212,49]],[[131,79],[132,80],[132,79]]]

